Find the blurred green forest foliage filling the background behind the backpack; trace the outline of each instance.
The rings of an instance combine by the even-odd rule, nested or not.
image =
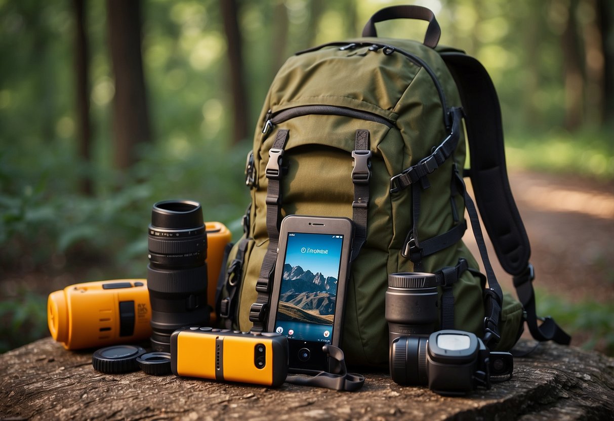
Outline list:
[[[238,2],[250,125],[287,56],[359,36],[375,10],[404,3]],[[427,3],[440,22],[441,44],[475,55],[490,72],[503,124],[513,133],[507,137],[511,166],[614,178],[609,133],[553,129],[565,124],[560,42],[565,10],[556,9],[564,2]],[[158,200],[195,199],[203,204],[206,220],[225,223],[235,239],[240,232],[249,202],[243,168],[250,145],[247,140],[228,145],[233,110],[226,53],[235,46],[225,40],[218,2],[142,2],[143,66],[154,139],[125,172],[113,169],[111,158],[115,87],[106,2],[86,5],[93,131],[89,162],[77,152],[71,3],[0,0],[0,281],[33,271],[78,271],[84,281],[144,276],[146,226]],[[584,6],[582,25],[592,7]],[[414,39],[425,28],[418,21],[378,24],[384,36]],[[592,115],[591,110],[585,114]],[[80,190],[86,178],[93,180],[91,196]],[[44,308],[49,286],[23,288],[17,296],[2,296],[0,316],[10,326],[31,322],[33,334],[44,334],[45,314],[37,303]],[[17,333],[11,329],[11,335]]]

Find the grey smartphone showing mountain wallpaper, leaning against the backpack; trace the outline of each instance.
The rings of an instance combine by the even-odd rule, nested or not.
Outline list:
[[[267,328],[288,338],[291,371],[328,371],[339,346],[354,224],[289,215],[281,222]]]

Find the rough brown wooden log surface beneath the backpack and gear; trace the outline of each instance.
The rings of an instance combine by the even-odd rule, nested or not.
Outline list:
[[[614,358],[575,347],[540,344],[529,357],[515,358],[511,380],[467,397],[402,387],[386,373],[363,374],[365,385],[352,393],[141,371],[111,375],[92,368],[91,352],[66,351],[45,338],[0,355],[0,419],[614,419]]]

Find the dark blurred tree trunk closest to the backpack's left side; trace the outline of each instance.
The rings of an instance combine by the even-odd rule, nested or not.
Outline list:
[[[230,66],[230,91],[232,93],[233,120],[233,144],[246,139],[249,133],[249,119],[247,114],[247,93],[243,79],[243,41],[237,21],[239,8],[236,0],[219,0],[224,31],[227,39],[228,65]]]

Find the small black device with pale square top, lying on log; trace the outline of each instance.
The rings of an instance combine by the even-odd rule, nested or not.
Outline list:
[[[427,338],[400,336],[390,348],[392,380],[402,385],[429,385],[440,395],[466,395],[489,388],[492,376],[511,377],[509,352],[489,352],[475,334],[440,330]]]

